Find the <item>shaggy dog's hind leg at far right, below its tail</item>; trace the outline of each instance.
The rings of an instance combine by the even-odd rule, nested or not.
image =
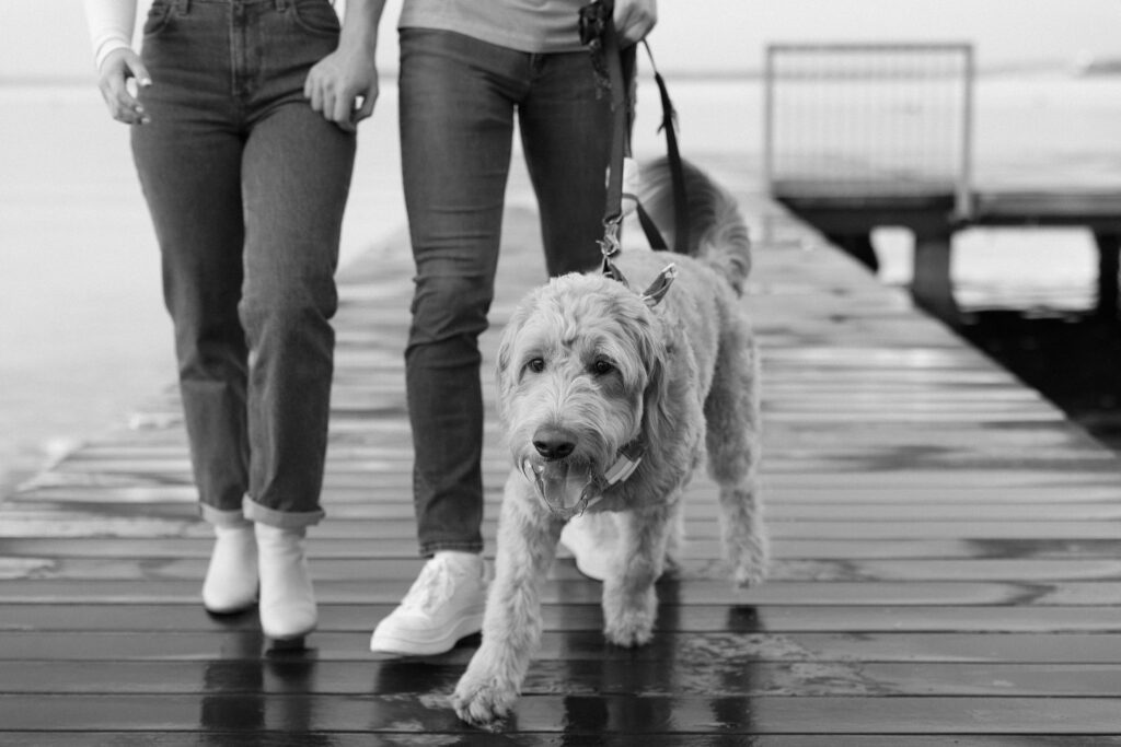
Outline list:
[[[747,321],[729,320],[705,400],[708,474],[720,486],[724,553],[739,586],[762,582],[769,549],[758,488],[759,354]]]

